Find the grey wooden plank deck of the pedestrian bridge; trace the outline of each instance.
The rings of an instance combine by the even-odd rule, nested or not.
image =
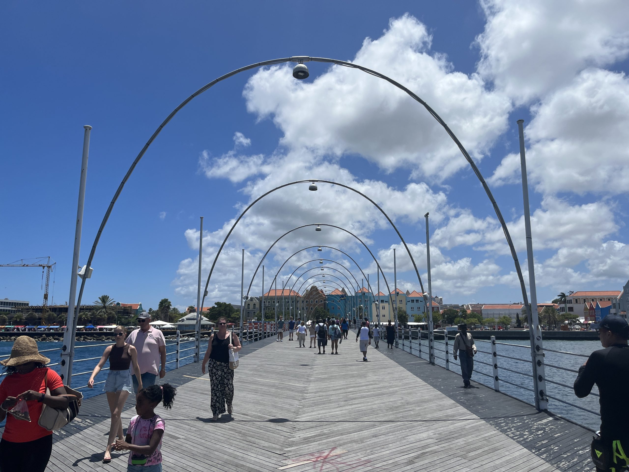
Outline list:
[[[588,471],[591,432],[473,383],[401,349],[343,340],[339,356],[274,338],[245,346],[233,417],[209,422],[200,364],[167,373],[178,387],[166,421],[164,471]],[[126,427],[133,395],[123,412]],[[48,470],[126,470],[102,464],[109,430],[104,395],[55,434]]]

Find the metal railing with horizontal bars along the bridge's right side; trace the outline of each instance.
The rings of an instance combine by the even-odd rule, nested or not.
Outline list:
[[[426,350],[424,349],[422,351],[422,347],[425,347],[428,344],[428,332],[416,330],[416,329],[405,329],[405,328],[399,327],[397,334],[398,334],[398,339],[401,341],[399,342],[398,347],[401,347],[401,349],[403,349],[404,351],[409,352],[409,354],[413,354],[414,356],[418,356],[421,359],[426,359],[426,361],[428,361],[428,356],[426,356]],[[438,339],[440,337],[442,337],[443,340]],[[435,354],[435,358],[444,361],[445,365],[440,366],[440,367],[445,367],[445,369],[447,370],[452,370],[450,368],[450,362],[451,362],[450,354],[453,354],[451,345],[452,345],[452,340],[454,340],[454,337],[455,337],[454,335],[449,335],[447,333],[443,334],[443,333],[437,332],[435,333],[436,339],[433,340],[433,351],[442,354],[442,355]],[[512,361],[524,362],[525,364],[528,364],[530,366],[530,364],[532,364],[532,360],[530,358],[526,359],[523,357],[516,357],[517,354],[513,354],[512,352],[509,352],[509,354],[513,354],[513,355],[509,356],[508,354],[499,352],[499,348],[498,348],[498,346],[510,346],[511,348],[521,348],[523,349],[522,351],[523,356],[530,357],[531,347],[528,344],[524,345],[524,344],[514,344],[514,343],[509,343],[509,342],[498,342],[496,341],[496,337],[494,336],[491,336],[491,340],[475,339],[474,342],[476,342],[477,344],[484,343],[482,344],[482,346],[489,347],[489,349],[485,350],[485,349],[479,349],[479,347],[482,348],[482,346],[477,346],[476,352],[477,354],[480,354],[481,356],[474,356],[475,365],[481,364],[483,366],[488,366],[489,368],[491,368],[491,374],[487,372],[483,372],[481,369],[474,369],[474,374],[481,374],[482,376],[492,379],[491,385],[487,385],[487,383],[482,382],[482,381],[481,383],[484,383],[484,385],[494,388],[494,390],[496,391],[501,391],[500,386],[501,386],[501,383],[503,383],[503,384],[516,387],[520,390],[524,390],[526,392],[535,393],[535,390],[531,388],[533,385],[532,369],[528,372],[519,371],[516,368],[514,368],[514,366],[510,366],[511,368],[508,368],[506,366],[501,365],[499,362],[499,358],[502,357],[504,359],[511,359]],[[586,357],[586,358],[589,357],[589,356],[586,356],[585,354],[577,354],[576,352],[568,352],[568,351],[558,351],[555,349],[544,348],[544,351],[554,352],[562,356],[574,356],[574,357]],[[478,357],[481,357],[481,358],[479,359]],[[436,365],[439,365],[439,364],[436,364]],[[557,366],[555,364],[547,364],[547,363],[544,363],[544,365],[550,369],[550,373],[552,373],[552,369],[557,369],[559,371],[567,371],[567,372],[571,372],[575,374],[579,373],[578,370],[571,369],[569,367]],[[500,375],[501,371],[503,372],[503,376]],[[507,377],[507,375],[504,373],[515,374],[516,376],[519,376],[520,378],[525,380],[525,382],[520,383],[516,379],[514,379],[513,376],[509,376],[510,379],[504,378],[504,377]],[[548,375],[548,371],[547,371],[546,377],[547,377],[545,379],[546,382],[560,387],[561,389],[559,390],[560,392],[564,390],[569,390],[570,394],[574,396],[572,385],[567,385],[566,383],[562,383],[560,381],[553,379],[552,374],[550,376]],[[530,386],[528,386],[527,384]],[[535,406],[535,403],[532,402],[528,398],[528,396],[521,397],[521,396],[511,395],[504,391],[502,391],[501,393],[504,393],[505,395],[513,396],[514,398],[517,398],[518,400],[524,401],[526,403],[529,403],[530,405]],[[590,393],[590,395],[594,397],[599,397],[598,388],[596,387],[596,385],[594,386],[593,391]],[[555,395],[555,394],[548,395],[547,393],[547,396],[548,398],[550,398],[551,400],[554,400],[555,402],[559,402],[559,403],[562,403],[563,405],[566,405],[566,407],[577,408],[578,410],[591,413],[592,415],[596,415],[597,417],[601,416],[599,412],[592,410],[591,408],[587,408],[582,405],[577,405],[574,402],[570,402],[564,398],[560,398],[560,396],[562,395]],[[555,414],[559,414],[559,415],[562,414],[562,413],[554,412],[552,408],[548,408],[548,410]]]

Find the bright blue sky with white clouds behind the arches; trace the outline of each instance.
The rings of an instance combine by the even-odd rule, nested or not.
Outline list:
[[[516,120],[526,120],[538,298],[620,289],[629,277],[629,39],[620,20],[627,6],[597,5],[566,13],[559,3],[525,8],[507,0],[448,8],[365,1],[3,3],[0,262],[52,256],[54,301],[65,303],[82,125],[93,127],[84,264],[118,183],[177,104],[243,65],[311,55],[380,70],[442,115],[489,181],[523,269]],[[423,279],[423,214],[430,211],[433,293],[446,303],[521,301],[491,205],[426,111],[357,70],[309,63],[311,77],[296,83],[290,67],[221,82],[165,127],[114,208],[84,301],[108,294],[145,308],[164,297],[194,304],[199,216],[205,279],[242,205],[303,178],[351,184],[381,203]],[[308,223],[358,233],[392,284],[391,249],[399,240],[380,216],[338,188],[304,190],[276,192],[253,208],[219,259],[206,305],[237,302],[240,249],[247,251],[248,281],[279,235]],[[353,238],[333,230],[316,236],[300,230],[282,240],[267,269],[276,271],[305,245],[329,243],[352,254],[374,280],[375,266]],[[418,289],[400,253],[398,286]],[[300,261],[318,256],[305,257]],[[37,269],[2,269],[0,283],[2,297],[41,303]],[[259,291],[259,278],[253,286]]]

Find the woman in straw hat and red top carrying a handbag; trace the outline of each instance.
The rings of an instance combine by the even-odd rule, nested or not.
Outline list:
[[[11,356],[0,364],[6,377],[0,384],[0,421],[6,426],[0,441],[0,470],[11,472],[43,472],[52,452],[52,431],[38,425],[43,405],[65,409],[65,396],[60,376],[46,367],[48,357],[37,351],[37,343],[29,336],[19,336],[13,343]],[[46,388],[50,395],[46,394]],[[7,415],[18,402],[26,402],[30,422]]]

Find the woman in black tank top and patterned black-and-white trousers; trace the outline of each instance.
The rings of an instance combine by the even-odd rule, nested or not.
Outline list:
[[[242,349],[238,336],[227,332],[227,318],[218,318],[218,331],[209,337],[208,350],[205,351],[201,372],[205,373],[208,364],[209,388],[211,398],[209,407],[212,410],[212,421],[218,420],[218,415],[227,412],[231,415],[234,398],[234,371],[230,369],[230,350],[238,352]]]

